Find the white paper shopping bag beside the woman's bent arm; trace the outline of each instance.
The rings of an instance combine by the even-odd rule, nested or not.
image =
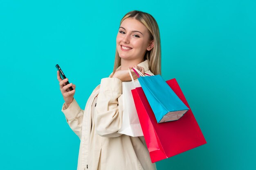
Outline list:
[[[131,82],[122,82],[122,92],[123,92],[123,117],[122,117],[122,126],[117,133],[129,135],[132,137],[143,136],[141,125],[139,123],[138,114],[135,108],[135,104],[132,97],[132,89],[135,87],[141,87],[138,81],[134,81],[130,69],[128,69],[131,76]],[[143,74],[140,74],[143,76]],[[148,74],[150,76],[150,74]]]

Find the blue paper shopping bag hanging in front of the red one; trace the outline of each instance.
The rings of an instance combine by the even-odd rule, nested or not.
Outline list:
[[[133,70],[140,73],[136,68]],[[178,120],[189,110],[162,76],[139,76],[138,80],[158,123]]]

